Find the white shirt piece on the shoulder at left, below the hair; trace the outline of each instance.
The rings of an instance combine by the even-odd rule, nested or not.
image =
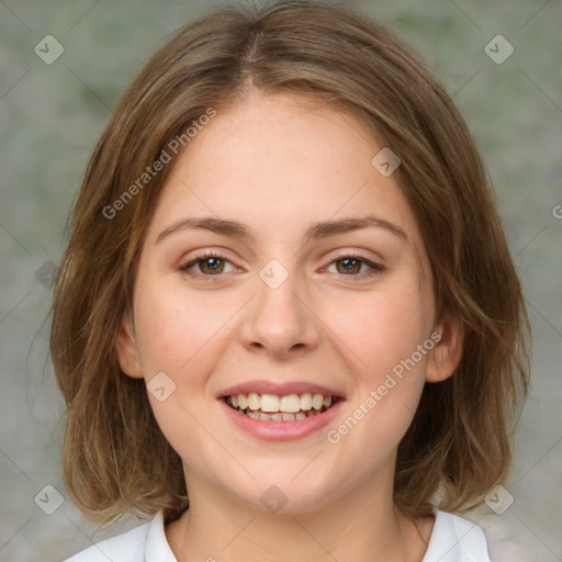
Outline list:
[[[177,562],[159,512],[151,521],[88,547],[64,562]]]

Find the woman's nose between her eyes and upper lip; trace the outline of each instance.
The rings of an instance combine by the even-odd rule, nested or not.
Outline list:
[[[248,351],[281,359],[318,346],[322,322],[296,278],[290,273],[277,288],[257,279],[257,294],[248,303],[241,329]]]

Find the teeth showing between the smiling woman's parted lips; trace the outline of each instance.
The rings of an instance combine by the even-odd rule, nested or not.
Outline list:
[[[236,394],[224,396],[226,404],[239,414],[260,422],[294,422],[318,416],[342,398],[323,394]]]

